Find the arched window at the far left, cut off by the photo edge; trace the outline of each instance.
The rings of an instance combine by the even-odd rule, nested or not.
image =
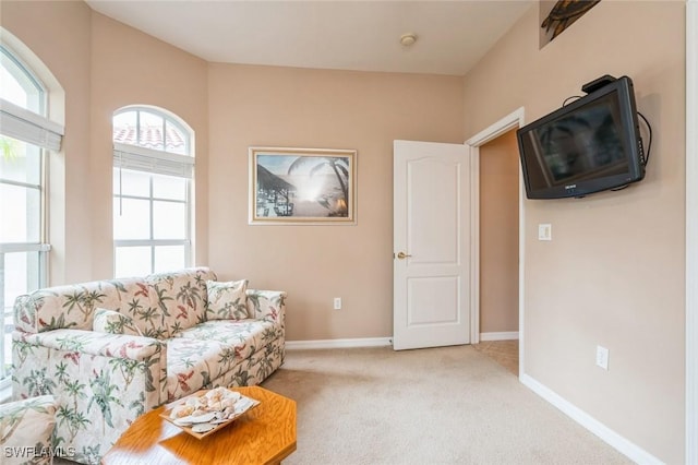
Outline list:
[[[48,91],[0,40],[0,390],[10,385],[12,307],[19,295],[47,285],[47,156],[63,128],[48,119]],[[27,53],[29,53],[27,51]]]

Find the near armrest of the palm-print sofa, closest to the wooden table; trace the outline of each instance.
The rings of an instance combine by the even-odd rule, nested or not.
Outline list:
[[[53,395],[56,445],[97,463],[140,415],[167,401],[167,345],[158,339],[53,330],[12,333],[14,400]]]

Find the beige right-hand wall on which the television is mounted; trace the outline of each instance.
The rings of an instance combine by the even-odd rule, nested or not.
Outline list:
[[[629,75],[654,132],[646,179],[525,202],[525,373],[666,463],[684,462],[685,12],[603,1],[539,50],[538,8],[466,79],[466,139]],[[552,242],[537,240],[551,223]],[[610,349],[609,371],[594,366]]]

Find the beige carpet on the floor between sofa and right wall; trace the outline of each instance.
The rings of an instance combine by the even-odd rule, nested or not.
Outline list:
[[[629,464],[471,346],[289,349],[292,464]]]

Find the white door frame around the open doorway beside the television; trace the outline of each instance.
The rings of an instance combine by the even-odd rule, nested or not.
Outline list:
[[[466,141],[470,156],[470,344],[480,342],[480,147],[525,124],[524,107]],[[524,367],[524,245],[526,239],[524,177],[519,169],[519,379]]]

